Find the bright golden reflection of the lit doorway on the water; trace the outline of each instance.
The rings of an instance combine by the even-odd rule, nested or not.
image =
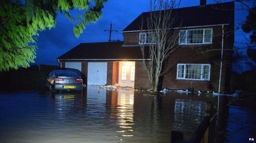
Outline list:
[[[110,105],[109,105],[110,104]],[[133,136],[133,113],[134,113],[134,91],[123,90],[109,91],[107,94],[107,109],[110,112],[110,119],[115,124],[112,128],[116,131],[114,135],[119,140],[123,137]]]

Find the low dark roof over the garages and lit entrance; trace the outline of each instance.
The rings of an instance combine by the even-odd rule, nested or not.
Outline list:
[[[81,43],[57,59],[142,59],[140,47],[122,47],[121,42]]]

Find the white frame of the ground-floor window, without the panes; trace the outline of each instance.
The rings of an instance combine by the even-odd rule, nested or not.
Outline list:
[[[184,66],[184,71],[183,71],[183,77],[178,77],[178,73],[179,73],[179,65],[183,65]],[[201,75],[200,75],[200,79],[190,79],[190,78],[185,78],[186,76],[186,65],[201,65]],[[204,66],[209,66],[209,76],[208,79],[203,79],[203,67]],[[183,80],[196,80],[196,81],[210,81],[210,77],[211,77],[211,64],[177,64],[177,73],[176,73],[176,79],[183,79]]]

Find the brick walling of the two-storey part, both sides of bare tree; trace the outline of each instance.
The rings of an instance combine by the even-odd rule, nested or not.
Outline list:
[[[212,27],[205,27],[212,28]],[[232,49],[233,34],[228,35],[226,32],[229,27],[224,27],[225,39],[224,49]],[[178,30],[176,30],[178,32]],[[139,32],[123,33],[125,45],[138,44]],[[196,44],[196,45],[182,45],[179,46],[175,52],[171,55],[168,63],[173,66],[164,75],[162,81],[162,88],[169,89],[183,89],[186,90],[192,85],[194,90],[200,91],[215,91],[218,92],[219,76],[220,76],[220,58],[221,58],[221,41],[222,41],[222,27],[213,27],[213,44]],[[219,49],[219,50],[213,50]],[[210,51],[208,51],[210,50]],[[208,52],[206,52],[208,51]],[[230,72],[232,61],[232,50],[224,50],[223,53],[223,69],[221,76],[221,92],[225,92],[230,87]],[[199,80],[181,80],[176,79],[177,64],[211,64],[211,75],[210,81],[199,81]],[[148,76],[146,71],[143,69],[142,62],[137,61],[135,66],[135,89],[150,89]],[[227,73],[227,74],[226,74]]]

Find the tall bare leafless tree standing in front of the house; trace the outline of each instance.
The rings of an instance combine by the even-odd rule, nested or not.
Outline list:
[[[179,34],[173,29],[176,19],[173,8],[178,7],[179,4],[180,1],[176,2],[176,0],[150,0],[150,9],[148,15],[145,13],[145,20],[142,15],[140,47],[143,66],[154,93],[157,92],[159,77],[172,66],[167,65],[166,61],[178,47]]]

